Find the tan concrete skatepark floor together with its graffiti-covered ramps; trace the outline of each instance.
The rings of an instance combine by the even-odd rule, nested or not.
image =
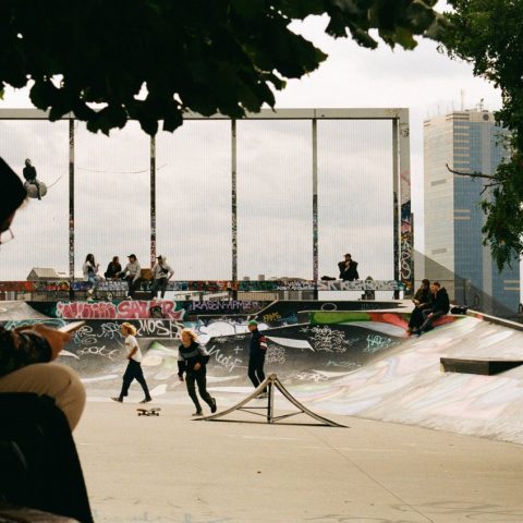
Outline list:
[[[122,318],[88,319],[60,361],[87,389],[75,440],[95,521],[523,521],[522,367],[479,375],[441,365],[445,357],[523,360],[521,326],[470,313],[409,338],[409,302],[370,311],[318,303],[319,311],[302,305],[293,315],[292,304],[272,303],[230,317],[132,319],[142,326],[158,417],[137,416],[137,385],[123,404],[110,401],[124,369]],[[27,303],[2,306],[14,324],[75,319]],[[191,417],[177,376],[177,330],[195,328],[210,353],[208,389],[220,413],[253,392],[245,363],[252,317],[268,338],[266,373],[343,428],[306,414],[268,424],[267,400],[258,399],[246,406],[262,416]],[[273,401],[278,413],[295,411],[278,391]]]

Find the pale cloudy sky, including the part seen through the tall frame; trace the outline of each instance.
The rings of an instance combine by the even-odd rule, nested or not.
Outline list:
[[[415,248],[423,252],[423,121],[482,100],[497,110],[500,93],[430,40],[413,51],[382,42],[368,50],[328,37],[326,24],[293,25],[329,58],[276,93],[276,108],[409,108]],[[0,109],[14,107],[32,107],[26,90],[7,90]],[[319,122],[319,276],[336,276],[351,252],[361,277],[392,278],[390,134],[384,122]],[[78,122],[75,144],[76,272],[90,252],[104,267],[131,253],[148,266],[148,137],[135,122],[110,139]],[[240,278],[312,278],[309,123],[239,122],[238,150]],[[0,155],[20,174],[31,157],[40,178],[57,182],[16,217],[19,245],[0,251],[0,279],[25,279],[33,266],[68,271],[68,154],[65,122],[0,121]],[[186,122],[161,133],[157,168],[157,253],[175,279],[229,279],[229,123]]]

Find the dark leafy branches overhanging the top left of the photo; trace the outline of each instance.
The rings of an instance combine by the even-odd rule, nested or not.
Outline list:
[[[106,134],[129,119],[173,131],[187,110],[241,118],[327,58],[291,22],[326,14],[336,38],[413,49],[441,28],[436,1],[2,0],[0,94],[32,83],[51,120]]]

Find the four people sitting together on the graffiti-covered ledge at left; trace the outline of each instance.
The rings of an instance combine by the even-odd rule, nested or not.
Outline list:
[[[84,265],[82,266],[84,281],[90,281],[95,288],[96,284],[104,279],[125,280],[129,289],[127,297],[133,299],[143,280],[142,266],[139,265],[138,258],[135,254],[130,254],[127,259],[127,265],[122,269],[120,258],[114,256],[107,266],[106,272],[104,276],[101,276],[100,264],[98,264],[95,260],[95,256],[89,253],[85,258]],[[174,270],[172,270],[172,267],[167,263],[167,258],[161,255],[157,256],[156,263],[151,269],[153,292],[155,296],[158,296],[158,293],[160,293],[160,297],[162,299],[166,296],[167,284],[173,275]],[[90,292],[93,292],[93,289]]]

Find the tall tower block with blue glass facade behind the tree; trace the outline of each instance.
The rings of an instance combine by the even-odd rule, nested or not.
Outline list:
[[[483,245],[488,180],[507,156],[506,131],[488,111],[455,111],[424,122],[425,275],[442,280],[457,303],[509,316],[520,304],[520,263],[498,271]]]

